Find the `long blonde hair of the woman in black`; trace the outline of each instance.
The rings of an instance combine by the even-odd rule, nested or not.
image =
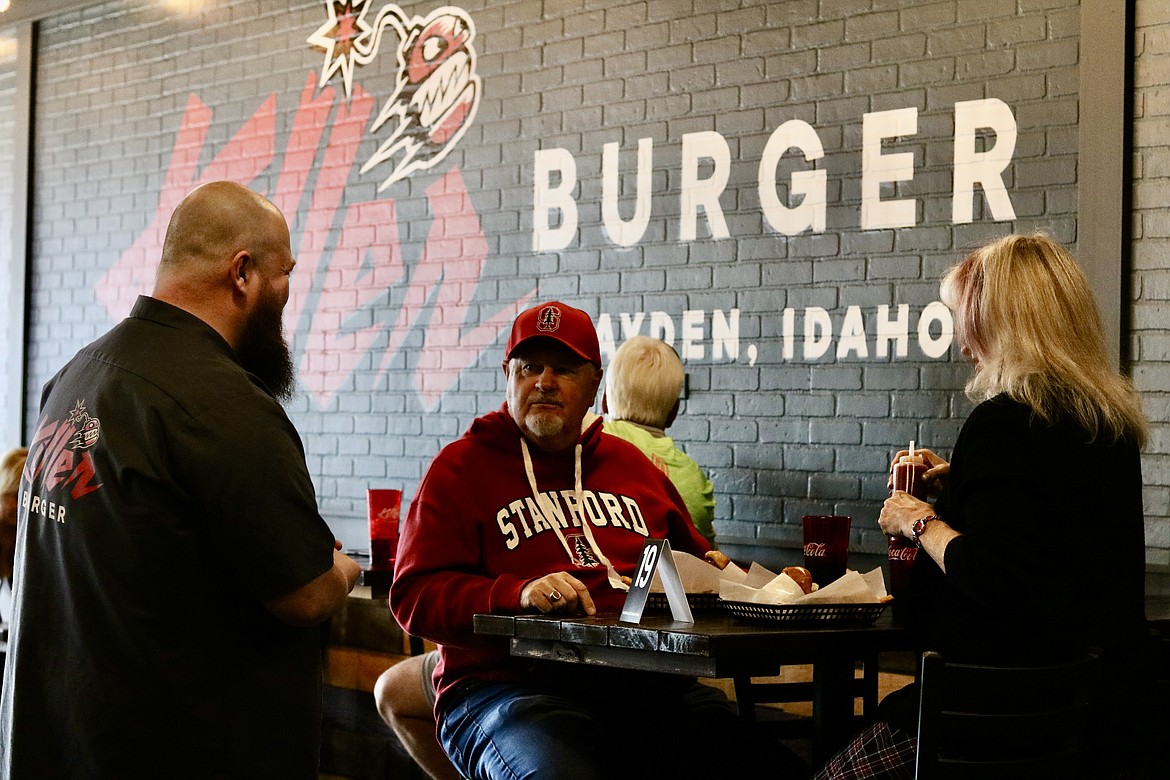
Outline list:
[[[1052,423],[1145,444],[1147,421],[1128,379],[1114,371],[1088,279],[1045,235],[1010,235],[968,255],[942,281],[959,344],[971,352],[968,396],[999,393]]]

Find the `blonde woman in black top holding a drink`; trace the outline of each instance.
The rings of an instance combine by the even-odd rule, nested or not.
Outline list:
[[[1087,765],[1095,776],[1143,776],[1124,765],[1136,758],[1124,743],[1138,725],[1144,633],[1137,395],[1109,363],[1085,275],[1048,237],[977,249],[943,278],[942,298],[975,367],[977,406],[949,463],[923,453],[935,504],[896,492],[879,518],[924,553],[911,624],[923,647],[956,661],[1040,664],[1101,648],[1110,716],[1094,727]],[[853,753],[819,776],[913,776],[916,703],[914,686],[887,697]],[[876,753],[886,767],[859,773]]]

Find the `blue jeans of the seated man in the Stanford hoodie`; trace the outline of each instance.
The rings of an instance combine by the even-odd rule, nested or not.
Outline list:
[[[702,776],[725,773],[729,758],[737,774],[755,765],[783,776],[780,751],[752,738],[722,691],[694,683],[660,693],[468,682],[445,697],[439,740],[474,780]]]

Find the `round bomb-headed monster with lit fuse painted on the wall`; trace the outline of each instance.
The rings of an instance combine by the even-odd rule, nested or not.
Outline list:
[[[387,5],[371,25],[365,20],[370,0],[328,0],[325,5],[329,20],[308,39],[325,50],[318,87],[340,71],[350,96],[355,65],[377,57],[387,27],[398,34],[395,89],[371,127],[374,133],[384,127],[390,133],[362,166],[362,173],[367,173],[390,165],[378,187],[381,192],[447,157],[475,118],[482,94],[472,47],[475,26],[466,11],[452,6],[407,19],[401,8]]]

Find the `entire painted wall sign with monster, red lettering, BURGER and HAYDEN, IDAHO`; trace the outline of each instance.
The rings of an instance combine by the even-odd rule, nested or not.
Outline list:
[[[150,290],[166,220],[190,189],[215,179],[252,185],[271,180],[275,171],[266,194],[289,216],[298,260],[285,334],[312,406],[326,409],[345,387],[373,387],[405,363],[422,409],[431,412],[498,343],[541,284],[534,276],[530,284],[501,288],[504,295],[495,288],[480,295],[498,257],[490,256],[482,215],[459,156],[452,156],[467,143],[486,89],[475,20],[461,7],[414,15],[376,0],[326,0],[322,12],[321,25],[304,39],[319,70],[307,74],[287,130],[277,130],[277,102],[287,97],[273,94],[226,143],[212,141],[215,110],[201,95],[188,96],[154,216],[104,272],[97,298],[118,320]],[[858,117],[860,149],[848,151],[853,167],[844,172],[859,180],[858,228],[922,225],[921,202],[890,194],[918,174],[915,153],[900,149],[911,144],[931,146],[918,154],[920,164],[949,144],[952,225],[977,219],[976,202],[986,203],[984,219],[1016,219],[1009,172],[1019,129],[1012,106],[996,97],[956,102],[951,123],[949,139],[920,140],[917,108]],[[600,156],[544,139],[535,144],[523,174],[531,200],[521,215],[522,229],[525,220],[531,226],[532,257],[558,256],[597,239],[607,244],[603,251],[663,239],[701,244],[702,251],[734,242],[742,237],[735,225],[729,227],[727,203],[743,208],[744,200],[729,198],[729,182],[742,180],[744,168],[756,178],[748,207],[760,215],[765,237],[839,229],[826,212],[840,208],[842,187],[831,180],[824,132],[801,119],[779,123],[758,159],[745,152],[748,144],[717,131],[684,133],[677,149],[649,137],[628,149],[605,143]],[[676,186],[663,188],[663,174]],[[412,195],[421,191],[427,210],[425,221],[410,226],[401,201],[407,182]],[[600,202],[590,202],[587,193],[598,185]],[[598,206],[600,232],[581,222]],[[667,222],[665,236],[649,227],[655,220]],[[420,230],[421,241],[407,246],[404,236]],[[760,361],[945,359],[954,338],[950,313],[936,301],[875,303],[842,292],[835,306],[778,302],[749,310],[736,290],[724,292],[725,304],[677,310],[603,302],[603,352],[612,356],[624,339],[645,333],[717,371]],[[406,361],[399,358],[405,350]]]

